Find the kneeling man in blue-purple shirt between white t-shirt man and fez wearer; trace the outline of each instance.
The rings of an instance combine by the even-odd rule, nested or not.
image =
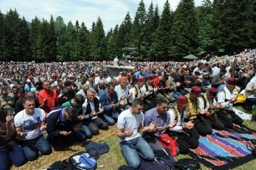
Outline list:
[[[143,138],[150,144],[152,150],[162,150],[164,148],[158,141],[159,136],[166,133],[168,128],[176,125],[176,121],[171,122],[170,114],[167,113],[167,104],[166,98],[158,98],[156,107],[146,111],[144,114],[144,126],[149,126],[151,122],[156,125],[154,130],[143,133]]]

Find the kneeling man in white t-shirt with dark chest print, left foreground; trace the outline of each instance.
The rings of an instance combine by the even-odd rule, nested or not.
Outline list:
[[[38,150],[42,155],[51,154],[51,147],[44,138],[42,131],[46,130],[46,113],[35,108],[34,97],[24,97],[24,110],[14,117],[17,138],[28,160],[38,157]]]

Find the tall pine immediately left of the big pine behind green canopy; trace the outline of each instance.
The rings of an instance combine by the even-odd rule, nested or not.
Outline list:
[[[150,47],[149,56],[152,60],[168,59],[172,39],[170,30],[172,27],[172,11],[168,0],[164,3],[163,13],[160,18],[159,27],[154,34],[154,43]]]

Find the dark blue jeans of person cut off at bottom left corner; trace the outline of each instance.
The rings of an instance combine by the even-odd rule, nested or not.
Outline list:
[[[17,143],[0,149],[0,170],[10,169],[12,163],[16,167],[26,163],[22,147]]]

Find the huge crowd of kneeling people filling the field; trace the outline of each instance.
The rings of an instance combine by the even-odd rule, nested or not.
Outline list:
[[[246,110],[256,104],[255,49],[200,62],[120,61],[134,68],[118,74],[106,65],[113,63],[0,62],[0,169],[62,151],[115,123],[127,165],[136,169],[140,157],[153,160],[164,148],[163,134],[175,137],[176,154],[187,154],[199,135],[241,125],[233,111],[238,93]]]

